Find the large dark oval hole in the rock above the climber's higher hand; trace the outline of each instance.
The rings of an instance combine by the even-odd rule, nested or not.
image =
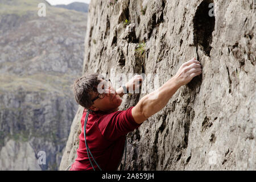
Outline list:
[[[209,3],[213,3],[213,0],[204,0],[201,2],[193,18],[194,44],[196,46],[201,45],[207,56],[210,56],[212,49],[210,44],[212,43],[212,32],[215,25],[215,17],[209,15]]]

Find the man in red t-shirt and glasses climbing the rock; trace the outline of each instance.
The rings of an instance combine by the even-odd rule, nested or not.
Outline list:
[[[82,132],[77,158],[70,170],[117,170],[123,156],[126,134],[163,109],[177,89],[188,84],[201,72],[200,62],[195,58],[189,60],[160,88],[142,97],[137,105],[123,111],[118,110],[118,107],[125,89],[134,89],[135,82],[142,81],[142,76],[131,78],[126,88],[122,86],[118,90],[114,90],[109,80],[104,80],[96,73],[76,80],[73,85],[75,99],[85,109],[81,119]],[[98,92],[99,85],[105,92]]]

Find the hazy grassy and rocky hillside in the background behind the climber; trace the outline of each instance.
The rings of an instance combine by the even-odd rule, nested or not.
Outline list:
[[[58,169],[77,110],[71,85],[82,73],[86,22],[46,1],[0,0],[0,170]]]

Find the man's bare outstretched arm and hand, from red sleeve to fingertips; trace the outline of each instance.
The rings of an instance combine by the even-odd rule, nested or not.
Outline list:
[[[140,124],[151,117],[151,115],[163,109],[180,86],[188,84],[193,77],[200,75],[201,72],[201,64],[195,59],[182,64],[174,77],[154,92],[144,96],[138,104],[133,107],[131,114],[135,122]]]

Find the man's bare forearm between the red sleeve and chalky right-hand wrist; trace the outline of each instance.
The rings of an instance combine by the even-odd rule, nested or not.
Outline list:
[[[177,85],[175,78],[172,77],[160,88],[144,96],[132,110],[134,120],[142,123],[163,109],[179,88],[180,85]]]

